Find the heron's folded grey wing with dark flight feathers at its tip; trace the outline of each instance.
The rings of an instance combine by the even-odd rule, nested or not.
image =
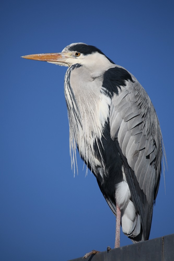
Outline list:
[[[116,141],[134,205],[149,238],[153,203],[158,193],[162,135],[158,117],[146,91],[133,78],[114,95],[110,107],[111,138]]]

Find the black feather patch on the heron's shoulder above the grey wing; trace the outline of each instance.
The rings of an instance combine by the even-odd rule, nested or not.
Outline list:
[[[112,98],[114,94],[118,95],[118,88],[121,90],[121,86],[126,86],[128,80],[134,82],[127,70],[117,66],[110,68],[104,73],[101,92]]]

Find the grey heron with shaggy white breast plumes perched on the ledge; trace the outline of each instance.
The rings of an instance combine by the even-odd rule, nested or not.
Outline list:
[[[77,146],[116,216],[115,247],[120,246],[120,225],[134,243],[148,240],[163,152],[166,156],[146,91],[92,45],[73,43],[61,53],[22,57],[68,67],[64,92],[71,165],[75,171]]]

